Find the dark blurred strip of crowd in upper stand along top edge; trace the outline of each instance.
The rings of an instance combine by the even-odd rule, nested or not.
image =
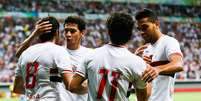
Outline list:
[[[114,11],[127,11],[134,14],[136,10],[150,8],[160,16],[201,17],[201,6],[138,4],[132,2],[111,2],[109,0],[0,0],[0,11],[23,12],[68,12],[78,14],[106,14]],[[195,13],[196,12],[196,13]]]

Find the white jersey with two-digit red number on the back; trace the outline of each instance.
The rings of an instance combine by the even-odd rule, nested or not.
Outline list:
[[[129,82],[138,89],[146,87],[140,79],[146,66],[127,48],[108,44],[87,55],[76,73],[88,79],[88,101],[127,101]]]

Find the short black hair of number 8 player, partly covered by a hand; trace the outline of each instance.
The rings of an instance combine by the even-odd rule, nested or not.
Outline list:
[[[59,30],[59,22],[57,21],[56,18],[54,18],[52,16],[42,18],[42,20],[39,22],[39,24],[42,22],[45,22],[45,21],[49,21],[49,23],[52,24],[52,29],[50,32],[42,33],[39,35],[39,39],[41,42],[46,42],[46,41],[52,40],[53,37],[55,36],[56,31]]]

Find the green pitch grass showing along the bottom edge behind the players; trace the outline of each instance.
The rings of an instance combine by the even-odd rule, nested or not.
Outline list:
[[[136,101],[135,95],[132,94],[129,98],[130,101]],[[0,98],[0,101],[19,101],[18,98]],[[174,101],[201,101],[201,92],[193,93],[175,93]]]

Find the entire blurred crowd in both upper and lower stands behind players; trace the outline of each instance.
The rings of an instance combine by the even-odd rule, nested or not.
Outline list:
[[[62,2],[62,3],[61,3]],[[59,6],[58,6],[59,5]],[[72,6],[73,5],[73,6]],[[126,7],[125,7],[126,6]],[[200,17],[201,7],[176,6],[134,3],[107,3],[107,2],[83,2],[62,0],[0,0],[0,11],[37,11],[37,12],[77,12],[110,14],[117,10],[126,10],[134,14],[136,10],[144,7],[154,9],[160,16],[188,16]],[[196,12],[196,13],[194,13]],[[17,67],[16,49],[20,43],[33,31],[38,18],[0,18],[0,82],[13,82],[14,71]],[[65,44],[63,37],[63,19],[60,19],[60,33],[62,45]],[[105,26],[105,20],[86,20],[87,33],[82,40],[82,45],[97,48],[108,43],[109,37]],[[177,38],[180,42],[184,57],[184,71],[177,74],[178,80],[201,79],[201,23],[181,23],[161,21],[161,30]],[[136,29],[133,31],[132,40],[129,42],[131,51],[143,44],[141,36]]]

